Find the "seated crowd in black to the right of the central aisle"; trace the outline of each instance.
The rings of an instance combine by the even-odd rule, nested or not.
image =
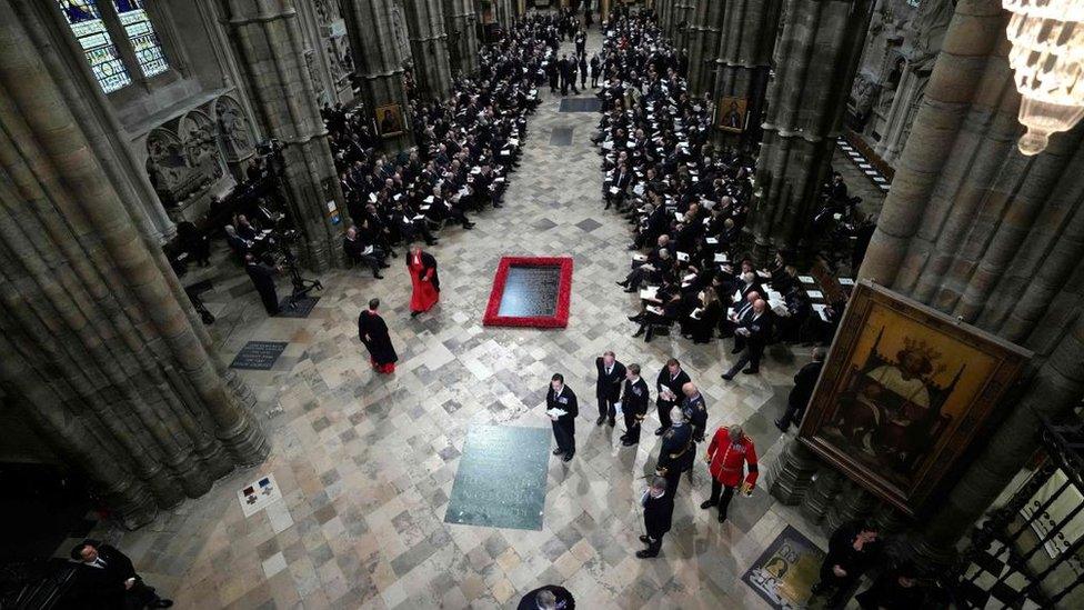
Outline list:
[[[689,96],[681,56],[648,12],[618,16],[606,31],[595,142],[605,208],[632,226],[629,249],[646,249],[618,282],[641,296],[634,337],[650,341],[674,324],[699,343],[734,337],[746,373],[757,372],[769,342],[829,340],[842,304],[825,321],[812,314],[787,253],[760,270],[742,256],[754,160],[710,143],[711,108]]]

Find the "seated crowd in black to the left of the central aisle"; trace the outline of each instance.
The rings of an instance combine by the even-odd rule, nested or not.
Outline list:
[[[501,207],[506,176],[519,164],[526,117],[539,103],[543,64],[560,37],[556,16],[531,16],[484,47],[479,71],[461,76],[443,101],[410,100],[416,148],[382,154],[368,117],[330,111],[327,119],[347,211],[347,252],[379,276],[399,243],[436,243],[448,222],[473,228],[469,214]]]

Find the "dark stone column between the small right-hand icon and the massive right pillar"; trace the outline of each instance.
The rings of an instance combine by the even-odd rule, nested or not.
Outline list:
[[[872,0],[787,0],[767,93],[750,228],[753,258],[807,253],[805,231],[842,129]],[[723,38],[726,39],[724,28]],[[724,42],[725,44],[725,42]]]

